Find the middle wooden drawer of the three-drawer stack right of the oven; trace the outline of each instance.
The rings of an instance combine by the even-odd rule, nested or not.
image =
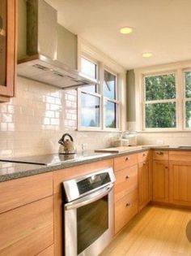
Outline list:
[[[117,171],[115,183],[115,201],[124,197],[125,194],[138,188],[138,166],[126,167],[121,171]]]

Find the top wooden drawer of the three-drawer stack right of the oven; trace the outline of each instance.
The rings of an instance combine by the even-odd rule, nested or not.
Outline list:
[[[138,163],[138,154],[128,154],[119,158],[114,158],[114,171],[119,171],[125,167],[130,167]]]

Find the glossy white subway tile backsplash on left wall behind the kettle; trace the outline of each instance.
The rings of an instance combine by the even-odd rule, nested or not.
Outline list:
[[[57,89],[25,78],[17,78],[16,97],[0,103],[1,158],[57,153],[58,140],[69,132],[77,150],[109,146],[118,133],[78,132],[77,91]],[[97,140],[97,137],[100,140]]]

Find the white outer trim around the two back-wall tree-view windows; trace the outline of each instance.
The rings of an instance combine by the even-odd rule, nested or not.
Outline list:
[[[159,75],[176,72],[176,128],[146,128],[143,117],[144,76]],[[136,101],[136,130],[146,132],[191,132],[191,128],[185,127],[185,72],[191,72],[191,60],[177,63],[168,63],[152,67],[142,67],[134,70],[135,74],[135,101]]]

